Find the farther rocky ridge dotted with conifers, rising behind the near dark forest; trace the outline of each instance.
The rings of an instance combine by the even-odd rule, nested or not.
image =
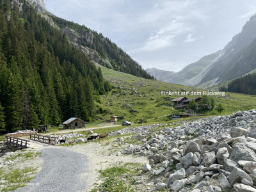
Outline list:
[[[99,65],[137,77],[154,79],[136,61],[132,60],[126,52],[101,33],[99,34],[97,31],[86,28],[86,26],[61,19],[51,13],[47,15],[61,29],[61,32],[68,36],[70,42],[77,49],[90,56]]]

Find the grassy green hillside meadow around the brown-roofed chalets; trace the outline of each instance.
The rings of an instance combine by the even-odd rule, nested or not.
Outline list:
[[[147,122],[165,122],[169,120],[167,115],[175,113],[170,100],[180,96],[164,96],[161,95],[162,91],[180,93],[189,91],[202,92],[202,94],[204,92],[199,88],[143,79],[116,72],[106,67],[102,67],[102,74],[106,80],[116,87],[111,92],[101,95],[100,103],[97,102],[100,108],[108,111],[107,114],[98,116],[102,122],[109,120],[109,115],[124,116],[125,120],[131,122],[141,122],[141,119],[147,120]],[[137,93],[131,95],[132,89]],[[193,98],[198,96],[188,95],[186,97]],[[164,98],[170,98],[170,100],[165,100]],[[214,96],[214,99],[217,103],[222,102],[225,104],[227,109],[222,113],[223,115],[236,113],[239,110],[256,108],[256,97],[254,95],[225,93],[225,97]],[[209,111],[207,115],[218,115],[218,113]]]

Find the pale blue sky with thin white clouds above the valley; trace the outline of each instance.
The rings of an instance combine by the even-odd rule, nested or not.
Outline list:
[[[255,0],[44,0],[47,10],[115,42],[143,68],[178,72],[223,49]]]

